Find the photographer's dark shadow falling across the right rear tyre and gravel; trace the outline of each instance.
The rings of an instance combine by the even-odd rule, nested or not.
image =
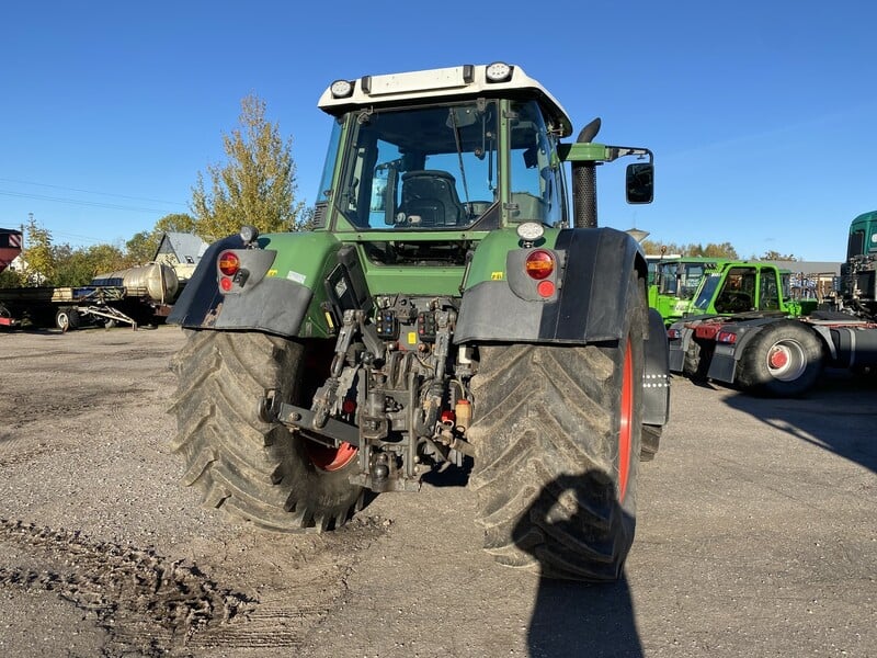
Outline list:
[[[635,519],[614,490],[600,472],[560,476],[543,487],[513,532],[542,574],[527,632],[532,658],[642,657],[627,579],[623,572],[616,579]],[[635,490],[628,494],[635,500]],[[565,571],[603,582],[554,577]]]

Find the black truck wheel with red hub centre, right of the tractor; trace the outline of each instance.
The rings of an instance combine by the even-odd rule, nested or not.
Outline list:
[[[750,393],[795,397],[807,392],[822,372],[822,343],[797,320],[766,325],[743,348],[737,384]]]

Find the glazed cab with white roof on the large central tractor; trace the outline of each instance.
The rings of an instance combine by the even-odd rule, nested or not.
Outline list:
[[[458,234],[568,224],[557,145],[571,125],[520,68],[342,80],[319,106],[337,118],[317,197],[320,228]]]

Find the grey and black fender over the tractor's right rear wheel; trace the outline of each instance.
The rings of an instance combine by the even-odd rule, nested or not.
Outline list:
[[[514,341],[584,344],[620,340],[627,282],[647,264],[637,241],[612,228],[570,228],[555,250],[565,253],[557,295],[524,299],[508,281],[482,281],[463,295],[454,342]]]

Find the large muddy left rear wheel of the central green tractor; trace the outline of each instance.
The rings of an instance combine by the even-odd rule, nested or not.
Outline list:
[[[259,417],[265,390],[300,402],[322,383],[328,363],[324,350],[264,333],[190,334],[172,361],[172,450],[185,462],[183,481],[201,489],[206,506],[287,532],[350,519],[362,500],[362,488],[348,480],[356,450],[320,447]]]

